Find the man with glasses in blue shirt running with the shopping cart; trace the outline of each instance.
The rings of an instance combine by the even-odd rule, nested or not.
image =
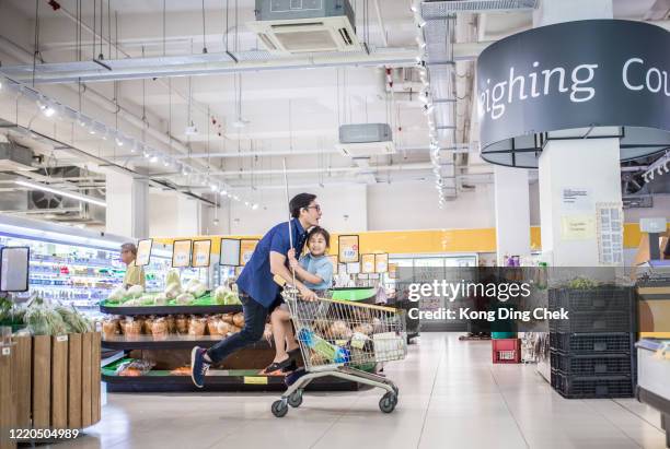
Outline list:
[[[244,312],[242,331],[221,340],[209,350],[194,347],[190,353],[190,378],[198,388],[205,385],[205,375],[212,363],[223,361],[233,352],[241,350],[263,338],[265,321],[273,310],[282,304],[280,287],[274,276],[293,284],[293,276],[288,268],[288,255],[291,249],[301,253],[307,240],[307,229],[319,225],[321,206],[316,196],[300,193],[289,202],[291,212],[288,222],[280,223],[263,236],[250,261],[244,265],[238,279],[240,300]],[[289,237],[289,229],[291,238]],[[291,248],[292,240],[292,248]],[[316,295],[303,283],[296,280],[294,286],[304,299],[314,299]]]

